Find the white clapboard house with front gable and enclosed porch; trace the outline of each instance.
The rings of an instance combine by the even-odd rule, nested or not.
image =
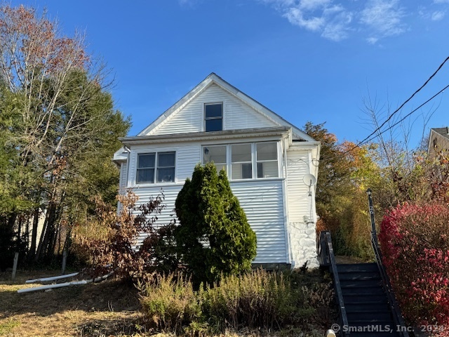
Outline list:
[[[320,144],[210,74],[114,154],[120,187],[140,202],[161,190],[167,210],[197,163],[224,168],[257,235],[254,265],[318,266],[315,182]],[[168,223],[170,213],[159,216]],[[143,238],[141,238],[143,239]]]

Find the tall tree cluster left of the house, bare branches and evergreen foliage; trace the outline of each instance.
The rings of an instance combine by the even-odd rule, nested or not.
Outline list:
[[[62,226],[85,214],[86,198],[80,195],[114,190],[118,173],[103,161],[109,161],[119,147],[117,137],[129,128],[114,110],[105,67],[87,55],[81,35],[59,32],[55,21],[34,8],[0,7],[0,83],[8,98],[0,139],[13,158],[3,169],[16,172],[8,198],[27,201],[25,209],[2,207],[1,221],[15,234],[22,228],[32,233],[29,258],[36,259],[51,258],[56,242],[65,238]],[[104,184],[92,183],[95,170],[104,173]],[[111,199],[110,190],[107,194]],[[45,222],[38,233],[41,213]]]

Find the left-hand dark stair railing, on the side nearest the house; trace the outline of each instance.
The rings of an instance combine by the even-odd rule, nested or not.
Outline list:
[[[342,336],[349,336],[349,331],[346,331],[344,327],[349,326],[346,308],[344,307],[342,286],[340,284],[340,277],[338,277],[337,263],[335,262],[334,249],[332,246],[332,238],[329,231],[323,231],[320,233],[319,241],[319,262],[320,265],[329,266],[330,272],[333,274],[335,296],[338,302],[338,311],[340,312],[340,326]]]

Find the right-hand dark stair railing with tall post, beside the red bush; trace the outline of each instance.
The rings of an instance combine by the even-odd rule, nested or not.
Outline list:
[[[382,253],[380,252],[379,242],[377,240],[377,230],[374,220],[374,206],[373,206],[373,197],[371,196],[372,191],[370,188],[366,191],[368,194],[368,206],[370,209],[370,218],[371,218],[371,246],[373,246],[374,256],[377,263],[377,267],[380,271],[380,276],[382,277],[382,283],[384,285],[385,293],[387,293],[388,304],[390,307],[391,314],[393,315],[394,324],[396,327],[403,328],[398,329],[398,333],[402,337],[409,337],[408,331],[406,329],[406,322],[401,314],[401,308],[396,301],[396,297],[394,296],[393,289],[391,288],[390,279],[387,275],[387,271],[385,270],[384,265],[382,264]]]

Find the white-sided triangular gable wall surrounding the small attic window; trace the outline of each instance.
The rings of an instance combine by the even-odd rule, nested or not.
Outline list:
[[[156,126],[148,133],[148,136],[204,131],[203,105],[217,102],[223,103],[223,130],[278,126],[238,98],[230,95],[216,84],[212,84],[185,107],[182,107],[179,112]]]

